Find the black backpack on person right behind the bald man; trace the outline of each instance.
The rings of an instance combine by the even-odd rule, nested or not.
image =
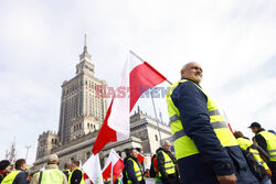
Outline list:
[[[267,175],[265,167],[255,160],[253,153],[250,152],[251,148],[252,147],[248,147],[245,151],[243,151],[243,154],[252,173],[257,177],[258,181],[263,181],[263,178]]]

